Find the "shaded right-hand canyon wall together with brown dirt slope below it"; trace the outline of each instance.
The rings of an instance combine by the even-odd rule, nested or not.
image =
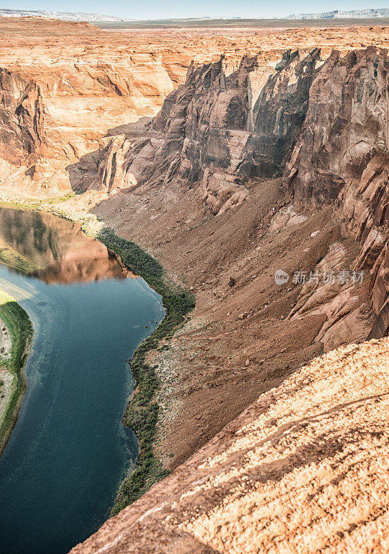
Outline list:
[[[377,325],[375,336],[386,334],[372,303],[376,290],[386,301],[386,265],[377,265],[386,235],[381,224],[370,233],[369,223],[364,238],[357,222],[369,210],[379,221],[386,210],[387,51],[349,50],[229,53],[192,64],[148,129],[104,139],[96,179],[69,202],[152,249],[196,293],[193,321],[158,359],[168,383],[159,449],[172,467],[304,361],[363,341]],[[369,196],[358,198],[363,183]],[[289,274],[283,287],[277,269]],[[296,270],[306,281],[293,279]],[[363,282],[353,271],[365,271]],[[323,282],[325,274],[335,277]]]

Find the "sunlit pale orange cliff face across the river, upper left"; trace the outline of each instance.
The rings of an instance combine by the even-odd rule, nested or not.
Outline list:
[[[36,190],[77,189],[80,175],[71,164],[98,150],[100,137],[123,122],[123,113],[127,120],[154,115],[173,88],[161,59],[125,65],[62,64],[61,74],[51,73],[46,82],[1,69],[3,172],[12,175],[12,166],[24,166]],[[96,119],[103,110],[105,120]]]

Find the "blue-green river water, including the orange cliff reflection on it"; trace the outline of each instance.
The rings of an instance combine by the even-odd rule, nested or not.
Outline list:
[[[3,239],[10,212],[0,211]],[[31,214],[17,217],[31,233]],[[35,330],[28,389],[0,458],[1,554],[66,553],[109,515],[137,449],[121,422],[132,390],[126,360],[164,315],[161,298],[142,279],[112,278],[121,269],[113,260],[107,267],[106,251],[99,260],[96,242],[82,248],[84,236],[72,224],[39,218],[44,260],[36,276],[0,265],[0,288],[17,298]],[[53,228],[62,238],[63,229],[69,233],[60,248],[57,234],[46,240]],[[22,248],[31,234],[24,236],[12,248],[31,260],[34,247]],[[72,258],[73,242],[82,252],[80,263]],[[98,267],[100,280],[94,280]]]

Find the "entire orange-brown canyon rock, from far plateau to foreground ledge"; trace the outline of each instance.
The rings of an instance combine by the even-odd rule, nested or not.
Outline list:
[[[74,552],[388,551],[389,29],[7,26],[1,198],[102,220],[196,296],[150,354],[173,473]]]

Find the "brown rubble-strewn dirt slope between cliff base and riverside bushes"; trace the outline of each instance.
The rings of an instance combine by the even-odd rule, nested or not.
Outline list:
[[[309,274],[334,244],[341,244],[338,263],[350,267],[359,248],[341,233],[328,208],[302,211],[302,221],[296,220],[300,223],[292,217],[281,229],[269,231],[274,214],[287,201],[276,179],[253,184],[242,206],[217,217],[204,215],[196,190],[174,185],[161,192],[140,188],[118,193],[94,210],[194,287],[192,318],[155,359],[163,382],[159,400],[165,407],[159,444],[172,467],[260,393],[323,352],[323,343],[328,350],[368,335],[368,280],[349,289],[352,301],[344,315],[350,314],[352,324],[343,321],[332,332],[343,306],[336,288],[318,300],[314,312],[288,320],[302,285],[292,278],[287,285],[275,285],[275,270]],[[328,309],[329,299],[333,305]],[[327,334],[319,341],[324,325]]]

